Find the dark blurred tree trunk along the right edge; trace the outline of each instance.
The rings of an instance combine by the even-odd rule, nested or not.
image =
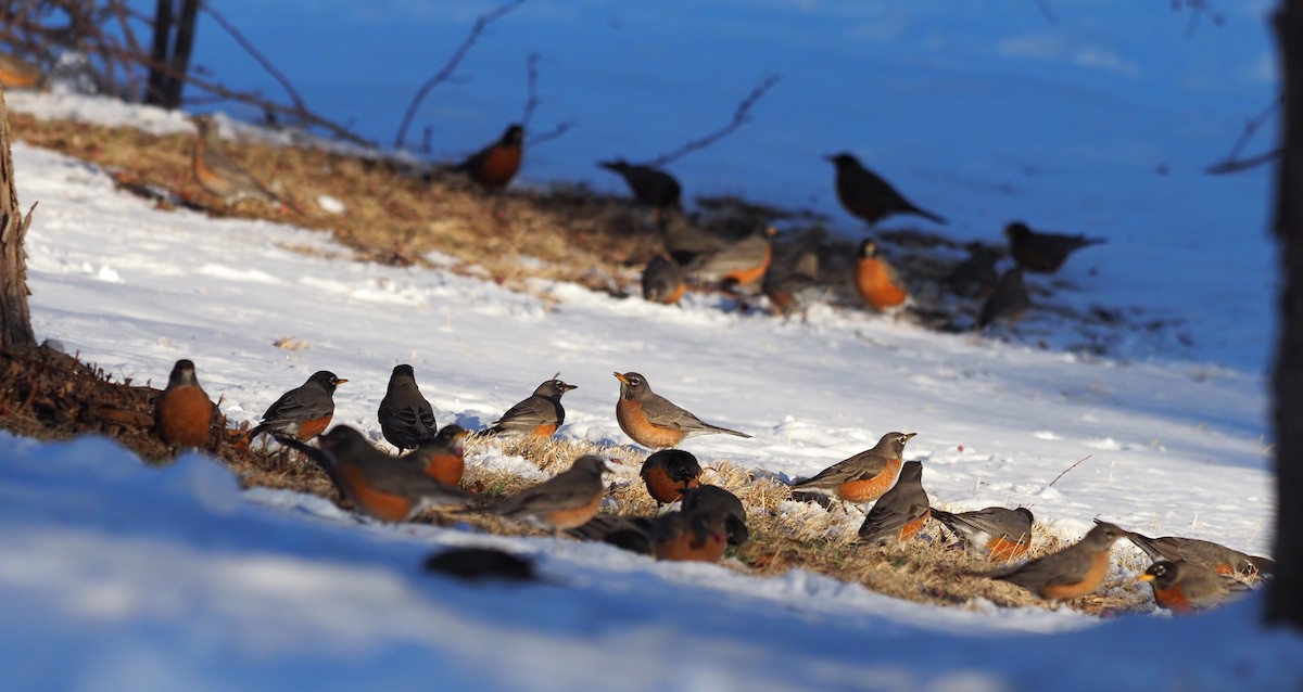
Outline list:
[[[1282,155],[1277,170],[1276,235],[1281,246],[1276,398],[1276,579],[1267,619],[1303,628],[1303,0],[1276,14],[1282,88]]]

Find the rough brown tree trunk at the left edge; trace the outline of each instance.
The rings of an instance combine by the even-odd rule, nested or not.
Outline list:
[[[35,207],[33,207],[35,208]],[[18,209],[18,189],[13,181],[13,155],[9,152],[9,108],[0,87],[0,347],[26,350],[36,346],[27,311],[27,254],[22,239],[31,224],[31,212]]]

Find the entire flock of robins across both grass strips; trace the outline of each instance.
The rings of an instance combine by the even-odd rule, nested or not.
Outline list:
[[[18,68],[22,68],[20,64]],[[7,83],[38,86],[31,70],[0,62]],[[231,160],[220,146],[214,121],[194,118],[198,137],[193,148],[193,174],[208,193],[227,203],[257,199],[284,203]],[[464,172],[486,190],[500,190],[516,176],[523,161],[524,129],[511,125],[502,138],[465,159]],[[835,189],[842,206],[870,226],[893,215],[913,215],[937,224],[929,212],[866,169],[855,156],[827,157],[837,169]],[[648,300],[676,303],[693,286],[735,290],[758,286],[779,315],[804,311],[825,299],[835,284],[850,284],[863,303],[874,311],[890,311],[909,299],[907,282],[883,256],[880,243],[859,243],[853,263],[830,256],[820,234],[775,243],[777,232],[767,221],[726,220],[700,224],[681,211],[681,186],[668,173],[623,160],[603,161],[628,183],[637,203],[655,209],[663,252],[652,259],[642,274]],[[997,272],[998,248],[971,243],[969,256],[955,264],[946,285],[958,295],[982,300],[975,328],[1018,320],[1031,306],[1023,272],[1053,273],[1068,256],[1104,242],[1083,235],[1038,233],[1025,224],[1005,229],[1014,265]],[[833,278],[830,278],[833,277]],[[657,559],[719,561],[730,546],[749,540],[748,510],[741,498],[715,485],[701,483],[696,457],[678,449],[700,434],[745,433],[704,423],[693,414],[655,394],[636,372],[615,373],[620,382],[616,420],[635,442],[654,450],[640,476],[657,506],[679,503],[654,516],[602,514],[607,460],[582,455],[551,479],[504,499],[487,499],[461,488],[464,444],[470,436],[524,436],[550,438],[564,421],[562,395],[573,385],[559,379],[542,382],[534,393],[511,407],[493,427],[472,433],[459,425],[439,428],[430,403],[421,395],[410,366],[397,366],[380,401],[377,416],[380,432],[400,455],[374,446],[364,433],[336,425],[335,388],[347,380],[321,371],[272,403],[248,438],[267,433],[285,447],[304,454],[331,479],[339,496],[357,512],[382,522],[410,522],[431,506],[456,505],[461,511],[491,512],[567,532],[584,540],[599,540],[649,554]],[[168,386],[155,402],[154,432],[173,450],[210,449],[215,406],[199,386],[194,363],[179,360]],[[843,502],[873,502],[859,529],[859,541],[870,548],[900,544],[915,537],[929,520],[949,529],[973,555],[1012,565],[969,576],[1005,580],[1036,596],[1063,601],[1095,593],[1110,567],[1110,549],[1121,539],[1140,548],[1153,563],[1140,576],[1153,588],[1160,607],[1190,614],[1216,607],[1269,576],[1270,559],[1248,555],[1224,545],[1179,536],[1148,537],[1096,520],[1080,541],[1059,552],[1023,558],[1032,542],[1033,516],[1027,507],[986,507],[949,512],[932,506],[923,486],[923,464],[904,460],[906,444],[915,433],[890,432],[878,444],[829,468],[791,484],[794,497],[826,494]],[[315,445],[308,442],[315,441]],[[465,578],[494,575],[529,578],[530,566],[513,555],[487,549],[453,549],[434,555],[431,570]]]

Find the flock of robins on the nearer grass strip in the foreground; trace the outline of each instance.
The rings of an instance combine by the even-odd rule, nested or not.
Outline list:
[[[399,451],[394,455],[349,425],[327,432],[335,389],[348,380],[321,371],[276,399],[246,440],[266,433],[300,451],[328,475],[348,506],[380,522],[412,522],[429,507],[457,506],[459,512],[523,520],[558,536],[605,541],[668,561],[717,562],[730,546],[747,542],[749,512],[762,510],[748,510],[730,490],[702,484],[697,458],[678,447],[702,434],[751,436],[702,421],[653,392],[637,372],[614,375],[620,386],[615,405],[620,429],[653,450],[640,476],[657,503],[654,515],[601,512],[607,493],[603,473],[614,468],[606,458],[592,454],[507,498],[490,499],[463,488],[469,437],[546,441],[555,434],[566,420],[562,397],[575,389],[556,377],[539,384],[486,429],[472,432],[456,424],[438,427],[412,366],[396,366],[377,410],[382,436]],[[155,433],[173,450],[210,449],[212,416],[214,405],[199,386],[194,363],[179,360],[155,402]],[[792,498],[812,499],[817,493],[827,496],[826,502],[872,502],[859,529],[859,542],[868,549],[907,544],[929,520],[937,520],[969,554],[1010,563],[968,576],[1009,581],[1049,601],[1096,593],[1110,571],[1110,550],[1119,539],[1130,540],[1152,558],[1153,565],[1140,579],[1152,584],[1160,607],[1177,614],[1216,607],[1273,571],[1270,559],[1216,542],[1181,536],[1154,539],[1100,520],[1079,542],[1016,562],[1032,545],[1032,512],[1027,507],[964,512],[934,507],[923,486],[923,463],[904,460],[906,445],[913,437],[883,434],[872,449],[791,483]],[[662,511],[663,506],[670,511]],[[429,567],[466,578],[520,578],[530,570],[520,558],[490,549],[447,552],[431,558]]]

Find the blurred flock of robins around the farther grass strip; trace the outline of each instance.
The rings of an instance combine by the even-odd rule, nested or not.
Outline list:
[[[255,199],[283,203],[266,185],[245,172],[223,151],[214,121],[194,117],[198,129],[193,148],[194,180],[227,203]],[[511,125],[490,146],[477,151],[452,170],[464,173],[485,190],[504,189],[524,160],[525,130]],[[889,182],[866,169],[850,153],[829,156],[837,169],[837,196],[853,216],[870,226],[894,215],[915,215],[937,224],[946,220],[906,199]],[[723,289],[727,293],[762,293],[775,315],[804,313],[810,306],[839,294],[877,312],[907,304],[911,281],[889,260],[881,243],[864,239],[856,245],[829,238],[822,229],[809,229],[779,238],[764,213],[722,213],[711,219],[685,213],[683,187],[671,174],[624,160],[601,161],[628,183],[635,202],[653,209],[661,251],[642,271],[642,297],[657,303],[678,303],[689,287]],[[975,242],[969,256],[956,263],[945,286],[981,307],[973,328],[1015,323],[1032,306],[1023,272],[1053,273],[1068,256],[1104,241],[1079,234],[1042,233],[1023,222],[1005,229],[1014,264],[998,272],[1002,250]]]

